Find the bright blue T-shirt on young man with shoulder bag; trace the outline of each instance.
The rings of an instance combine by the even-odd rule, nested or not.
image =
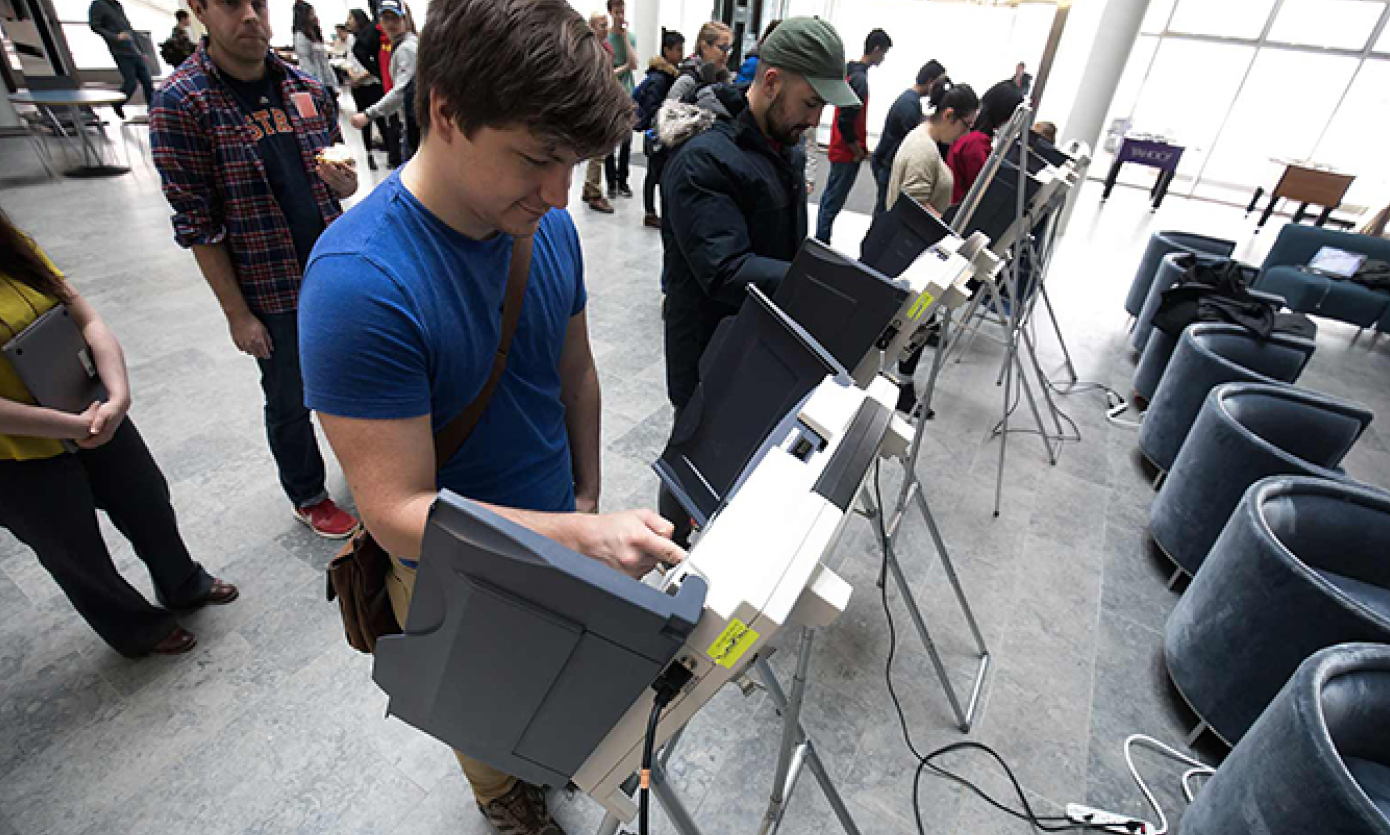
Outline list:
[[[512,236],[464,238],[392,174],[314,247],[299,296],[304,402],[339,417],[453,420],[488,379]],[[482,420],[439,486],[525,510],[574,510],[560,353],[584,310],[569,213],[541,220],[521,322]]]

